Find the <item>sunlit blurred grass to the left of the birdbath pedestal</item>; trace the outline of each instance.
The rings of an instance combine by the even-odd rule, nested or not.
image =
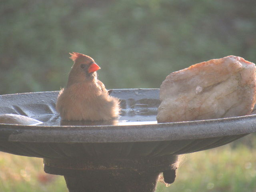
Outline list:
[[[44,173],[43,160],[0,152],[1,192],[66,192],[62,176]]]

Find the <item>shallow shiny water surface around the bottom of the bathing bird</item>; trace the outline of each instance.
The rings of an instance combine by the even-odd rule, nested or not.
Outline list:
[[[38,126],[128,126],[128,125],[145,125],[157,124],[156,116],[120,116],[119,118],[108,121],[63,121],[58,114],[42,114],[33,116],[43,124]]]

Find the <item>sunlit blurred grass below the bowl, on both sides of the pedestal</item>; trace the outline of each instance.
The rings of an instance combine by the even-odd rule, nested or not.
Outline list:
[[[255,136],[183,157],[176,180],[157,192],[256,192]],[[44,173],[40,158],[0,152],[1,192],[67,192],[62,176]]]

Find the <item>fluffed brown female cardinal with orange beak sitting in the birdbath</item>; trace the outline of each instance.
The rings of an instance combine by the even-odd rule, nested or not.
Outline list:
[[[60,91],[56,110],[62,120],[110,120],[119,114],[119,100],[97,79],[100,67],[84,54],[70,53],[74,61],[66,88]]]

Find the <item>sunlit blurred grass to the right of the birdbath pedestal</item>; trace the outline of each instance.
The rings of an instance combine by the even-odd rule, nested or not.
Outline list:
[[[248,140],[251,140],[248,144]],[[157,192],[256,192],[254,136],[184,157],[174,184]]]

